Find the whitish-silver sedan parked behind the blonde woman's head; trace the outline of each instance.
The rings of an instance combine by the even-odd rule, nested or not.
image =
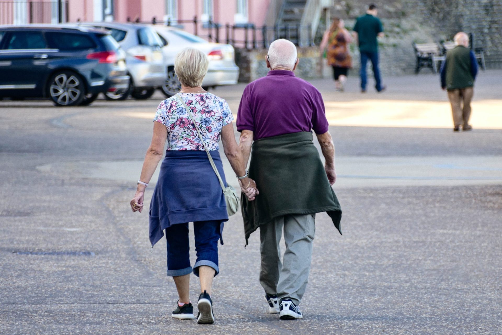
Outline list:
[[[210,87],[237,83],[239,68],[235,64],[234,50],[231,45],[207,42],[198,36],[173,27],[160,25],[150,27],[157,31],[164,44],[162,51],[166,61],[167,79],[161,90],[167,97],[178,93],[181,89],[178,77],[174,73],[174,57],[186,47],[201,50],[209,59],[209,67],[202,86]]]

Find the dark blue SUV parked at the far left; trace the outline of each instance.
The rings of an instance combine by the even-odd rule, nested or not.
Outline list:
[[[129,88],[125,54],[108,32],[65,26],[0,26],[0,99],[85,105]]]

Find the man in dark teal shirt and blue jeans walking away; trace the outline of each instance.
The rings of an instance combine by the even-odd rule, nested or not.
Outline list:
[[[376,5],[369,5],[366,15],[357,18],[354,26],[354,38],[358,41],[359,51],[361,54],[361,92],[366,92],[367,76],[366,64],[368,60],[371,61],[373,66],[373,73],[375,77],[376,91],[382,92],[386,86],[382,85],[382,78],[380,76],[379,59],[378,59],[378,41],[377,37],[384,36],[384,28],[382,22],[376,17],[378,9]]]

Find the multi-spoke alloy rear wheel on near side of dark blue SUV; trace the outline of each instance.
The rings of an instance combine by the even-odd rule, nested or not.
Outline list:
[[[48,95],[56,106],[78,105],[84,99],[84,82],[73,71],[58,71],[49,79]]]

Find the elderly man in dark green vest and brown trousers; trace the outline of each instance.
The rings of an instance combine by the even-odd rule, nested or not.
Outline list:
[[[476,56],[469,50],[469,37],[460,32],[455,35],[456,47],[446,53],[441,66],[441,88],[448,90],[448,99],[453,114],[454,132],[472,130],[469,125],[470,102],[474,95],[474,80],[477,74]],[[462,105],[463,104],[463,105]]]

